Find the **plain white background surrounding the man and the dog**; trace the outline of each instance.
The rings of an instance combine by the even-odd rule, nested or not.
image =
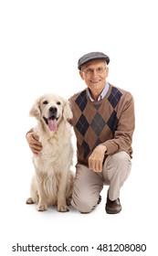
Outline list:
[[[2,255],[53,255],[12,252],[20,245],[88,245],[89,252],[61,255],[113,255],[102,243],[145,243],[155,255],[157,236],[157,5],[156,0],[0,1],[0,145]],[[34,168],[26,132],[36,124],[28,112],[38,96],[65,98],[85,88],[78,59],[90,51],[111,58],[108,81],[131,91],[135,100],[132,173],[121,189],[122,211],[100,206],[87,215],[73,208],[37,212],[26,205]],[[74,163],[75,165],[75,163]],[[57,252],[54,252],[57,254]]]

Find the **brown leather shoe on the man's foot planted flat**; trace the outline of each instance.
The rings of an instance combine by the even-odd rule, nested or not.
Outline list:
[[[105,206],[105,210],[109,214],[116,214],[116,213],[121,212],[120,198],[117,198],[116,200],[111,201],[111,199],[108,196],[107,197],[107,203],[106,203],[106,206]]]

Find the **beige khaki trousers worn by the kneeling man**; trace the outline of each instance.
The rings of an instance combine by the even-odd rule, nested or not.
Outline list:
[[[80,212],[88,213],[98,205],[100,191],[109,186],[109,197],[120,197],[120,189],[131,171],[131,158],[126,152],[109,155],[102,173],[96,173],[85,165],[77,165],[71,204]]]

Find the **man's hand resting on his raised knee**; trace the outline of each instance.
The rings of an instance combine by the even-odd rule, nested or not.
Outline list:
[[[98,145],[89,157],[89,167],[94,172],[102,172],[102,163],[104,160],[105,152],[107,148],[105,145]]]

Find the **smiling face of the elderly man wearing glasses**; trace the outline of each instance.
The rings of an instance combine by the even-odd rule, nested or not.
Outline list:
[[[92,94],[98,94],[105,87],[108,71],[106,62],[102,59],[96,59],[83,65],[79,74],[82,80],[85,80]]]

